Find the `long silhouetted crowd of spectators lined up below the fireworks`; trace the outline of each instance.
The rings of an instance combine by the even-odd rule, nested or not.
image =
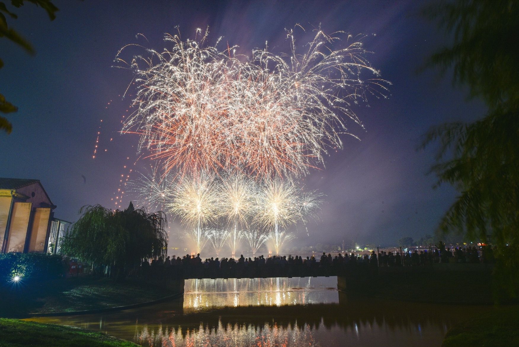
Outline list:
[[[141,275],[153,276],[167,273],[175,278],[257,278],[257,277],[306,277],[335,276],[348,266],[423,266],[432,263],[493,263],[494,250],[485,246],[445,247],[440,242],[434,250],[381,251],[378,254],[350,253],[343,256],[338,253],[332,256],[323,252],[318,259],[308,256],[264,256],[245,258],[243,255],[234,258],[207,258],[202,260],[200,254],[173,256],[153,259],[151,263],[144,260],[141,264]]]

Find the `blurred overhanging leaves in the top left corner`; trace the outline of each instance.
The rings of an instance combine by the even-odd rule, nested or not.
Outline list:
[[[56,11],[58,11],[58,8],[54,6],[50,0],[11,0],[11,5],[20,8],[23,6],[24,2],[33,3],[36,6],[41,6],[49,15],[50,20],[54,20],[56,18]],[[24,39],[18,32],[13,30],[12,28],[9,28],[7,25],[7,18],[6,16],[10,17],[11,19],[17,19],[18,16],[9,11],[7,9],[7,6],[5,5],[5,2],[0,1],[0,37],[5,37],[9,41],[17,44],[18,46],[22,47],[26,52],[28,52],[31,55],[35,54],[34,48],[32,45]],[[0,69],[4,66],[4,62],[0,58]],[[11,113],[18,111],[18,108],[13,105],[12,103],[8,102],[5,97],[0,94],[0,113]],[[7,134],[10,134],[12,131],[12,125],[9,123],[6,117],[0,116],[0,130],[4,130],[7,132]]]

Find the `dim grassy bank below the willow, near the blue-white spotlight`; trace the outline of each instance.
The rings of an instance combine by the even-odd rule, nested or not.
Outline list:
[[[169,295],[171,291],[167,288],[131,279],[123,283],[90,277],[60,278],[33,284],[21,281],[0,290],[0,317],[104,309]]]

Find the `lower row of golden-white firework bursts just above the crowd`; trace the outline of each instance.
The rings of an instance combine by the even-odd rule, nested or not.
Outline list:
[[[246,238],[253,250],[270,239],[278,253],[294,237],[282,229],[317,218],[322,203],[316,191],[305,192],[281,179],[258,183],[245,176],[201,175],[168,180],[152,174],[131,184],[142,189],[144,202],[159,202],[192,230],[184,238],[193,239],[197,252],[210,241],[217,253],[227,243],[235,254],[240,240]]]

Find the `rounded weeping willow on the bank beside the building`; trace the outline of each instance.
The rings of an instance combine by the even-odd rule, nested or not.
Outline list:
[[[118,271],[138,265],[144,258],[164,256],[168,246],[167,220],[162,212],[111,210],[101,205],[83,206],[83,215],[63,239],[61,251],[98,265],[115,265]]]

